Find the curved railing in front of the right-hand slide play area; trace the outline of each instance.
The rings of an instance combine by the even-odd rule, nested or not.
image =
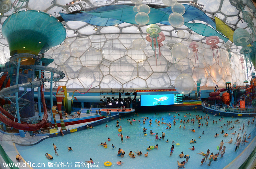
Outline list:
[[[229,113],[253,114],[256,112],[256,108],[241,109],[241,108],[231,108],[231,107],[230,108],[229,107],[220,107],[220,106],[208,104],[206,102],[202,103],[202,105],[209,109],[218,110],[218,111],[222,111],[222,112],[229,112]]]

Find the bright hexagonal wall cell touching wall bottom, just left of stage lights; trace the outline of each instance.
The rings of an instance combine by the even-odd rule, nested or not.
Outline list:
[[[98,66],[88,66],[82,67],[77,78],[83,85],[83,87],[90,88],[99,88],[100,81],[102,79],[102,74],[100,72],[100,68]]]

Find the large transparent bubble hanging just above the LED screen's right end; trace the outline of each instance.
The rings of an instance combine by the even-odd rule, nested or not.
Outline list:
[[[174,86],[177,92],[182,95],[187,95],[192,92],[195,87],[193,78],[188,74],[180,74],[174,81]]]

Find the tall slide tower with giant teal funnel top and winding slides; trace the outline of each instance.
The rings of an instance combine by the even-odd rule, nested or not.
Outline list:
[[[0,98],[1,102],[6,100],[12,104],[9,111],[0,107],[0,111],[6,116],[0,114],[0,121],[19,129],[20,136],[24,136],[23,130],[39,130],[48,123],[44,82],[50,82],[52,90],[52,82],[63,79],[65,74],[55,68],[47,67],[53,60],[45,58],[43,53],[63,42],[66,31],[63,25],[49,14],[26,10],[8,17],[4,21],[2,33],[9,44],[11,58],[0,66],[0,72],[3,73],[0,86],[6,84],[0,91]],[[48,76],[46,77],[45,74]],[[27,124],[21,121],[20,117],[35,116],[34,88],[38,90],[40,121]],[[41,113],[41,102],[44,114]],[[61,112],[61,107],[58,110]],[[11,111],[14,112],[14,116],[10,114]]]

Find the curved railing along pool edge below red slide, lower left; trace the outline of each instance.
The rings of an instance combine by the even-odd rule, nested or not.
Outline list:
[[[0,134],[0,140],[1,141],[13,141],[15,143],[20,144],[34,144],[41,140],[42,138],[48,137],[48,133],[44,133],[45,131],[41,131],[40,133],[37,133],[34,136],[26,136],[26,137],[20,137],[15,136],[13,134]]]

